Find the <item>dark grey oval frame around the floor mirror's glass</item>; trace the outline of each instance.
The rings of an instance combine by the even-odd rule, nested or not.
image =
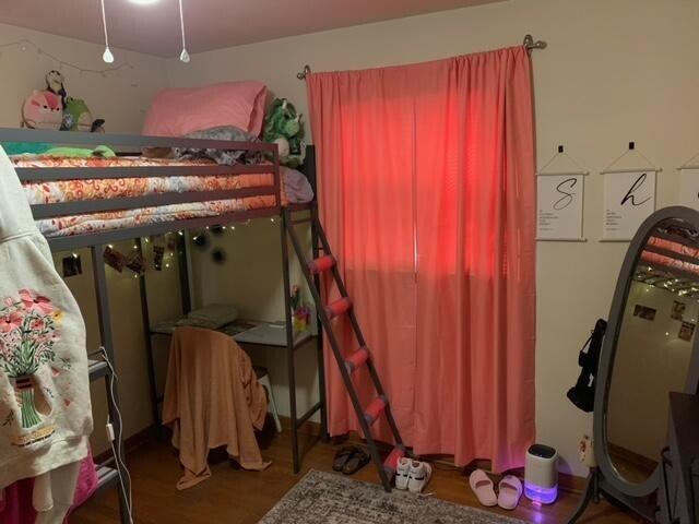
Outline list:
[[[660,465],[653,474],[641,484],[632,484],[626,480],[616,469],[612,457],[607,452],[607,403],[609,398],[609,386],[614,372],[614,361],[616,357],[617,342],[619,331],[624,321],[628,291],[631,287],[633,271],[641,250],[645,246],[648,238],[655,230],[656,226],[666,219],[678,218],[687,222],[699,231],[699,212],[689,207],[672,206],[664,207],[651,214],[639,227],[638,231],[631,239],[629,248],[619,272],[619,277],[614,290],[612,300],[612,309],[609,310],[607,331],[602,344],[602,354],[600,356],[600,367],[597,368],[597,386],[594,395],[594,452],[597,465],[604,475],[606,483],[612,485],[616,490],[630,497],[645,497],[657,490],[660,487]],[[687,370],[687,384],[685,392],[697,394],[699,389],[699,335],[695,336],[691,347],[691,356],[689,369]],[[670,402],[670,401],[668,401]],[[659,451],[659,463],[660,452]]]

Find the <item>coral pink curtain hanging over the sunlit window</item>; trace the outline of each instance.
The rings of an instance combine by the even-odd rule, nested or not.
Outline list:
[[[495,471],[535,436],[530,68],[517,47],[308,76],[321,216],[403,438]],[[330,431],[356,430],[327,358]]]

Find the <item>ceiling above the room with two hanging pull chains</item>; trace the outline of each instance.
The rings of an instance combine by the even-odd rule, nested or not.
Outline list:
[[[501,0],[182,0],[190,52],[400,19]],[[0,23],[104,43],[99,0],[2,0]],[[109,44],[179,55],[177,0],[105,0]]]

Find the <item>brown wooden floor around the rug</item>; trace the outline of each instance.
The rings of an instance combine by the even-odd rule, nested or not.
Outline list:
[[[268,425],[269,427],[269,425]],[[310,437],[304,437],[310,442]],[[300,475],[292,473],[288,431],[274,434],[265,430],[261,442],[263,456],[273,464],[262,473],[234,467],[225,456],[213,456],[212,477],[187,491],[178,491],[180,476],[177,456],[167,442],[143,444],[128,455],[133,478],[134,522],[137,524],[252,524],[258,522],[310,468],[332,471],[336,446],[319,442],[306,454]],[[354,475],[358,480],[377,483],[371,465]],[[428,490],[439,499],[479,508],[460,471],[436,466]],[[578,502],[578,496],[562,492],[550,507],[535,507],[524,497],[513,512],[495,510],[536,524],[564,523]],[[71,524],[118,523],[116,490],[106,491],[87,502],[71,517]],[[619,510],[601,503],[592,505],[580,524],[629,524],[638,522]]]

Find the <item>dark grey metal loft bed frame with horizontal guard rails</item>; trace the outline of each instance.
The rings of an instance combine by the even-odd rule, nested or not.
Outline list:
[[[67,237],[48,238],[51,251],[69,251],[78,248],[90,248],[92,255],[92,265],[94,273],[94,286],[97,301],[97,313],[99,322],[99,335],[102,346],[106,355],[115,364],[115,344],[109,311],[109,297],[107,288],[107,278],[105,273],[103,252],[107,245],[120,240],[133,240],[140,243],[140,239],[146,236],[163,235],[170,231],[179,231],[191,228],[201,228],[205,226],[226,225],[236,222],[244,222],[250,218],[259,217],[280,217],[281,246],[282,246],[282,272],[284,277],[284,302],[286,310],[286,340],[287,340],[287,364],[288,364],[288,381],[289,381],[289,404],[291,404],[291,431],[292,431],[292,453],[294,473],[300,471],[301,455],[298,443],[298,429],[313,414],[320,412],[321,418],[321,436],[327,436],[327,405],[324,391],[324,371],[323,371],[323,352],[321,337],[317,338],[318,352],[318,372],[320,402],[313,405],[308,412],[299,415],[296,406],[296,364],[295,353],[298,347],[305,344],[294,344],[293,319],[291,311],[291,277],[289,277],[289,253],[287,245],[287,229],[298,224],[311,223],[309,218],[289,219],[291,213],[287,212],[310,212],[310,216],[316,216],[316,202],[309,204],[289,204],[282,206],[281,199],[281,175],[279,151],[276,144],[268,144],[262,142],[234,142],[220,140],[202,140],[202,139],[179,139],[165,136],[143,136],[129,134],[103,134],[103,133],[79,133],[67,131],[47,131],[33,129],[13,129],[0,128],[0,144],[3,142],[47,142],[56,145],[80,145],[80,146],[97,146],[109,145],[119,151],[119,154],[132,152],[133,147],[141,148],[144,146],[158,147],[192,147],[192,148],[222,148],[237,151],[254,151],[271,156],[271,164],[260,165],[203,165],[203,166],[143,166],[143,167],[17,167],[15,168],[21,181],[56,181],[56,180],[88,180],[99,178],[137,178],[137,177],[173,177],[173,176],[206,176],[206,175],[226,175],[237,176],[240,174],[273,174],[274,183],[268,187],[245,188],[236,190],[221,191],[190,191],[190,192],[168,192],[158,194],[149,194],[133,198],[116,198],[106,200],[88,200],[76,202],[61,202],[54,204],[36,204],[32,205],[32,213],[35,219],[47,218],[61,215],[95,213],[112,210],[132,210],[139,207],[159,206],[173,203],[186,202],[205,202],[212,200],[237,199],[251,195],[270,195],[275,196],[275,205],[260,210],[250,210],[241,212],[225,213],[217,216],[199,217],[181,221],[170,221],[166,223],[157,223],[151,225],[127,227],[112,230],[94,231],[90,234],[81,234]],[[130,147],[131,150],[129,150]],[[308,177],[313,191],[316,190],[316,172],[315,172],[315,155],[312,146],[308,147],[306,176]],[[129,153],[133,154],[133,153]],[[135,153],[140,154],[140,151]],[[187,254],[186,240],[179,237],[178,255],[179,271],[182,297],[182,312],[189,312],[191,300],[189,296],[189,281],[186,274]],[[316,231],[312,231],[313,258],[318,257],[318,241]],[[182,272],[182,267],[186,269]],[[185,274],[183,274],[185,273]],[[154,421],[159,420],[156,390],[154,362],[151,346],[151,325],[147,312],[147,297],[145,294],[144,278],[140,278],[140,295],[142,314],[145,329],[145,344],[149,353],[147,366],[151,374],[151,396],[153,402]],[[306,341],[307,342],[307,341]],[[90,379],[91,381],[110,378],[109,369],[104,361],[90,360]],[[115,385],[114,392],[110,391],[109,382],[107,384],[108,410],[115,432],[121,436],[121,427],[119,424],[118,406],[119,394]],[[114,394],[112,394],[114,393]],[[116,446],[119,456],[115,460],[107,461],[117,462],[121,460],[123,463],[123,442]],[[119,507],[120,519],[123,524],[129,523],[127,508],[127,493],[130,492],[130,483],[128,478],[123,479],[123,485],[119,483],[118,471],[111,468],[107,463],[98,466],[99,491],[109,487],[118,487],[119,489]]]

